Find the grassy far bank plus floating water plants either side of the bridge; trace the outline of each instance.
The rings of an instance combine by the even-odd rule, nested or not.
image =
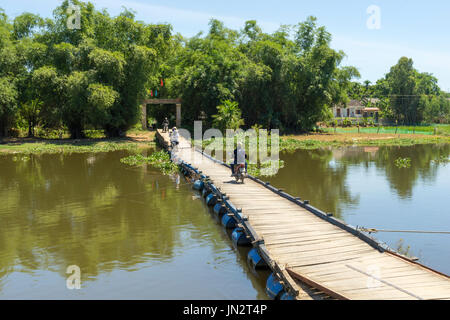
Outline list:
[[[155,131],[130,130],[123,138],[106,138],[93,133],[87,139],[43,139],[43,138],[11,138],[0,141],[0,156],[18,155],[27,160],[29,155],[98,153],[126,150],[131,155],[120,161],[129,166],[151,165],[162,174],[170,175],[177,172],[178,167],[171,162],[170,156],[164,150],[155,149],[150,156],[139,153],[142,149],[158,146]],[[270,139],[268,140],[270,141]],[[211,146],[214,140],[203,142],[203,146]],[[217,143],[217,142],[216,142]],[[370,134],[370,133],[308,133],[302,135],[285,135],[280,137],[280,152],[293,152],[298,149],[315,150],[320,148],[339,148],[349,146],[411,146],[416,144],[450,143],[450,136],[410,135],[410,134]],[[269,148],[270,149],[270,148]],[[25,158],[24,158],[25,157]],[[447,160],[447,159],[446,159]],[[279,168],[284,162],[279,161]],[[248,171],[256,177],[272,176],[271,163],[263,162],[249,165]]]

